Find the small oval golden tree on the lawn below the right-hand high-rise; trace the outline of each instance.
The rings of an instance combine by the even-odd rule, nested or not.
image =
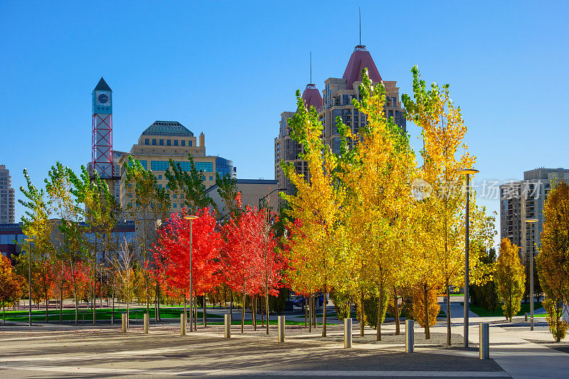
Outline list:
[[[518,247],[508,238],[500,242],[500,255],[496,261],[494,278],[498,287],[498,295],[504,303],[502,305],[504,316],[511,321],[520,310],[526,273],[520,262]]]

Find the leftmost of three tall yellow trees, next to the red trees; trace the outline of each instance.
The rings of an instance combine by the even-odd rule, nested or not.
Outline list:
[[[301,158],[308,162],[309,176],[297,173],[293,164],[282,168],[297,192],[284,198],[289,205],[287,213],[296,223],[292,245],[289,248],[291,284],[309,292],[323,291],[324,299],[333,278],[332,256],[336,250],[334,237],[339,220],[341,190],[334,186],[337,160],[329,146],[322,142],[322,125],[318,113],[307,109],[297,91],[298,110],[289,119],[291,137],[302,144]],[[326,336],[326,301],[322,317],[322,336]]]

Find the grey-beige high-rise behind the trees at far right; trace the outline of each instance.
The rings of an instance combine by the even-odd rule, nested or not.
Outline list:
[[[500,237],[509,238],[519,246],[522,262],[531,256],[530,248],[533,249],[533,255],[536,255],[536,246],[541,245],[543,206],[551,191],[553,178],[569,183],[569,169],[540,168],[524,171],[523,181],[512,181],[500,186]],[[526,223],[528,218],[537,218],[538,222],[532,226]]]

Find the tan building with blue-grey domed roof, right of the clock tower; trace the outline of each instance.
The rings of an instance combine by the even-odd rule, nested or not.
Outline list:
[[[177,121],[156,121],[147,127],[139,137],[138,143],[133,145],[128,153],[122,154],[119,159],[120,205],[122,208],[127,208],[133,201],[133,195],[129,191],[124,175],[129,164],[129,156],[138,159],[144,169],[152,171],[158,179],[160,188],[168,188],[168,180],[164,173],[169,168],[169,159],[180,164],[182,170],[190,171],[191,164],[188,154],[191,154],[196,169],[202,171],[203,186],[205,188],[213,186],[216,183],[217,162],[220,157],[206,155],[206,137],[203,133],[198,139],[194,137],[193,132]],[[224,164],[223,172],[235,172],[233,162],[223,159],[222,163]],[[171,211],[176,212],[182,207],[183,200],[174,198],[174,194],[171,196],[173,196]]]

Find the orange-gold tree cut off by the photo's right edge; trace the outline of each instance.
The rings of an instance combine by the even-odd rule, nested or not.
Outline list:
[[[543,208],[541,249],[536,257],[539,281],[546,300],[549,330],[560,341],[565,338],[568,324],[563,321],[563,308],[569,307],[569,186],[553,182]]]

